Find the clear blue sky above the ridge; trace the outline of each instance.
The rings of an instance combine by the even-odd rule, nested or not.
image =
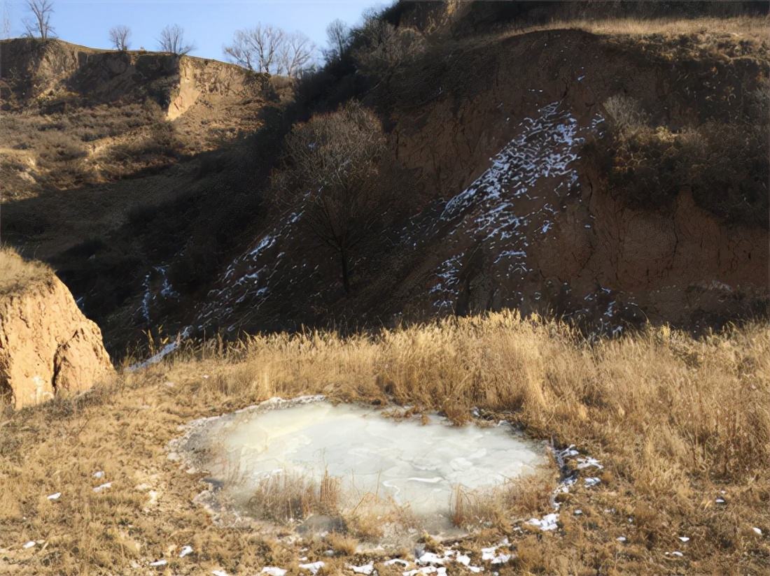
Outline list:
[[[184,28],[192,56],[223,60],[222,46],[233,32],[256,24],[270,24],[286,32],[300,31],[320,48],[326,45],[326,25],[340,18],[348,25],[360,22],[365,8],[382,8],[389,0],[52,0],[51,25],[67,42],[91,48],[110,48],[109,29],[131,28],[130,48],[156,50],[166,25]],[[23,18],[29,11],[25,0],[2,0],[11,23],[11,37],[25,32]]]

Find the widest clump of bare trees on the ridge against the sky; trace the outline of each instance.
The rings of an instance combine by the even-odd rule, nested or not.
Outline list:
[[[313,58],[313,42],[306,35],[287,34],[280,28],[258,24],[236,31],[233,43],[223,47],[229,59],[255,72],[297,76]]]

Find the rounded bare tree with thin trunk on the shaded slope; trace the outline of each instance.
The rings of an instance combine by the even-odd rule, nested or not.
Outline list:
[[[303,204],[303,222],[340,257],[350,293],[351,251],[376,228],[392,205],[377,179],[385,153],[382,126],[357,103],[315,115],[286,137],[283,166],[273,172],[276,200]]]

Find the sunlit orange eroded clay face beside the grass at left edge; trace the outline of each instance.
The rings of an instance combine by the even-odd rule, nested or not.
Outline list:
[[[114,373],[102,332],[55,275],[0,298],[0,399],[24,408]]]

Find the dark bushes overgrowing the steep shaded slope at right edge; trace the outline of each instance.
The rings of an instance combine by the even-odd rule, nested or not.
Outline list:
[[[729,225],[768,227],[768,85],[742,95],[735,118],[655,125],[634,98],[604,105],[608,130],[584,154],[630,205],[665,210],[688,188]]]

